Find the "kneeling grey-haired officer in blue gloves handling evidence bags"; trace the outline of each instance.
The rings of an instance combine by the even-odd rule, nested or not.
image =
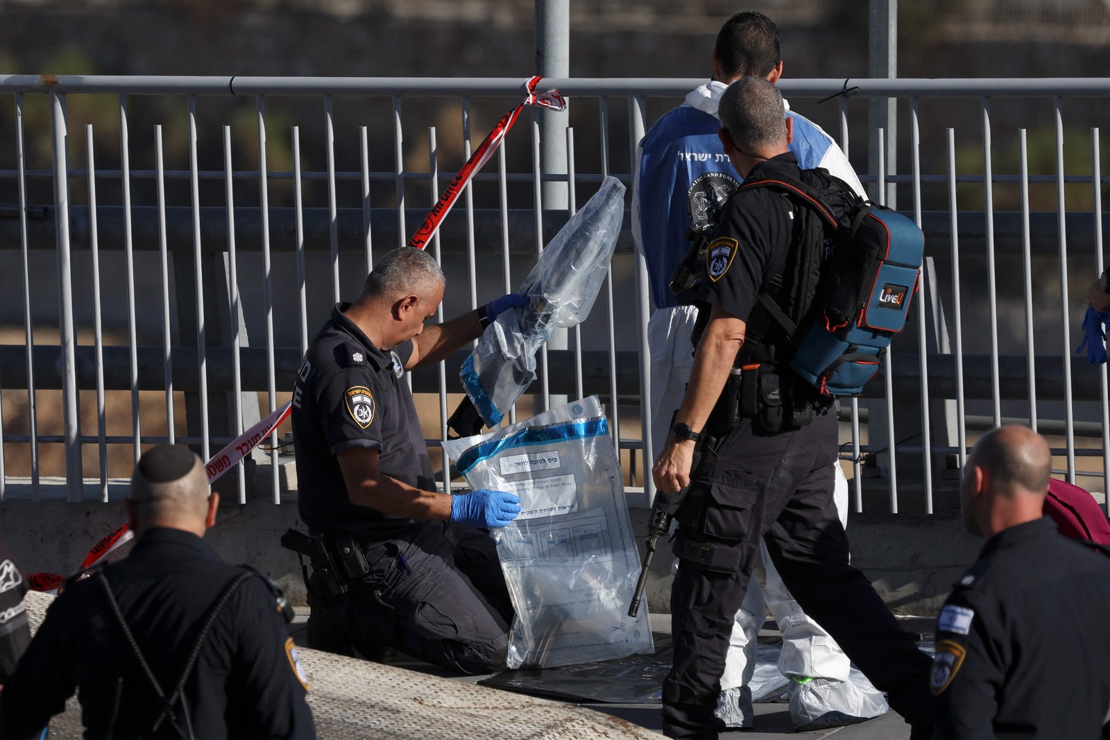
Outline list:
[[[443,291],[431,255],[385,254],[354,303],[335,306],[301,365],[301,519],[325,536],[342,581],[326,589],[319,568],[310,580],[309,635],[310,646],[343,651],[341,640],[365,657],[400,649],[477,673],[504,666],[513,619],[496,548],[477,528],[507,525],[519,499],[436,493],[404,373],[443,359],[526,298],[506,295],[424,328]]]

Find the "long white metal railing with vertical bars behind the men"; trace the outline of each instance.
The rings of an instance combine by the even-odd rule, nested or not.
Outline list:
[[[545,239],[605,175],[612,172],[630,184],[629,162],[649,123],[649,104],[657,115],[700,82],[543,81],[541,90],[558,88],[569,99],[572,112],[596,109],[597,115],[593,121],[578,115],[574,128],[554,134],[545,133],[536,119],[531,131],[522,121],[506,143],[514,155],[501,150],[496,166],[491,162],[467,186],[464,200],[430,247],[448,265],[448,274],[465,275],[465,305],[457,300],[452,303],[453,293],[466,293],[455,285],[448,287],[448,305],[473,307],[495,292],[514,288]],[[857,162],[857,171],[867,173],[861,179],[872,183],[875,192],[909,196],[907,212],[926,229],[929,255],[914,310],[916,326],[896,339],[884,362],[884,381],[872,383],[867,398],[845,404],[842,417],[850,426],[850,432],[845,430],[845,448],[850,445],[857,510],[862,509],[865,491],[874,489],[886,494],[891,511],[901,505],[931,513],[935,474],[947,458],[962,464],[968,422],[978,417],[986,426],[1018,417],[1033,426],[1047,425],[1046,430],[1051,427],[1058,432],[1052,436],[1062,438],[1054,452],[1064,460],[1068,478],[1076,480],[1077,475],[1087,474],[1087,480],[1096,481],[1088,487],[1097,487],[1102,478],[1104,490],[1110,478],[1107,374],[1104,368],[1077,362],[1070,337],[1078,331],[1083,307],[1076,288],[1103,266],[1101,185],[1106,181],[1094,126],[1110,105],[1110,80],[783,80],[779,87],[795,110],[819,122],[823,115],[829,119],[825,124],[838,134],[846,153],[850,153],[850,144],[871,135],[865,135],[866,124],[856,121],[866,109],[856,99],[897,98],[908,103],[901,115],[908,120],[909,135],[902,138],[906,144],[900,151],[902,164],[909,161],[909,173],[899,173],[894,162],[880,160],[872,168]],[[7,151],[0,152],[0,209],[10,203],[14,207],[8,210],[18,215],[0,217],[0,273],[7,273],[9,282],[22,288],[21,302],[12,300],[0,307],[9,312],[0,314],[0,326],[18,321],[23,334],[22,343],[0,346],[0,387],[7,391],[9,406],[18,399],[27,416],[26,424],[11,428],[0,408],[4,443],[0,445],[0,498],[6,487],[14,485],[13,475],[4,467],[6,446],[26,445],[26,473],[32,496],[38,497],[40,479],[61,473],[43,469],[40,445],[62,445],[67,497],[82,500],[82,452],[94,445],[100,468],[97,496],[107,500],[110,448],[130,447],[130,457],[138,457],[143,444],[175,440],[198,445],[206,455],[211,444],[243,429],[244,414],[251,410],[250,403],[244,406],[244,397],[250,401],[248,394],[264,392],[265,405],[275,408],[279,395],[291,385],[311,332],[322,323],[330,303],[344,295],[343,285],[351,294],[351,286],[372,266],[375,251],[405,243],[406,224],[415,224],[422,209],[434,202],[451,176],[441,172],[440,146],[445,139],[437,135],[437,125],[427,126],[426,138],[413,136],[418,124],[412,119],[437,121],[422,107],[457,105],[462,142],[455,159],[461,161],[471,151],[472,134],[484,133],[473,131],[474,111],[500,115],[518,102],[523,90],[521,79],[0,75],[0,97],[10,95],[14,107],[11,125],[0,129],[12,133]],[[81,130],[68,115],[71,95],[109,101],[118,132],[102,131],[103,124],[87,124]],[[181,154],[168,154],[164,146],[167,132],[180,126],[172,109],[151,126],[153,166],[133,164],[131,152],[139,150],[135,142],[145,141],[150,131],[138,134],[130,128],[139,118],[133,112],[139,99],[145,97],[176,101],[176,110],[188,115],[188,168],[167,164],[168,156]],[[49,104],[52,161],[50,169],[34,169],[29,166],[28,135],[48,134],[47,130],[29,132],[26,119],[29,108],[43,99]],[[233,126],[205,128],[203,120],[205,108],[231,110],[229,103],[234,107],[242,99],[253,101],[256,152],[233,145]],[[836,102],[816,105],[821,99]],[[1010,107],[1012,101],[1026,105],[1020,114]],[[949,103],[962,108],[946,108]],[[268,105],[274,111],[286,104],[294,113],[284,108],[279,114],[271,113],[271,118],[278,115],[292,123],[287,138],[278,138],[268,129]],[[306,116],[309,104],[319,105],[319,112]],[[992,122],[992,113],[998,120],[997,111],[1002,107],[1007,124],[1000,126]],[[405,108],[417,113],[405,113]],[[627,121],[623,120],[625,109]],[[353,126],[336,122],[351,110],[365,116],[360,119],[356,135],[350,135]],[[1047,123],[1045,110],[1051,112]],[[930,118],[932,111],[940,112]],[[312,122],[320,121],[315,116],[321,113],[323,125],[314,130]],[[148,114],[144,120],[150,118]],[[1029,123],[1011,125],[1010,119],[1022,123],[1029,119]],[[1077,126],[1090,131],[1090,166],[1066,169],[1064,145]],[[302,128],[312,138],[310,149],[323,149],[323,166],[302,168],[302,155],[307,151],[302,149]],[[1057,163],[1053,174],[1030,173],[1027,128],[1051,131]],[[967,134],[967,130],[972,133]],[[77,138],[79,131],[83,135]],[[995,166],[995,134],[1018,136],[1016,172]],[[543,135],[565,139],[565,162],[543,161]],[[874,135],[885,136],[886,132]],[[927,140],[924,144],[922,136]],[[972,148],[980,148],[980,169],[975,174],[958,171],[958,155],[967,151],[960,150],[958,142],[966,145],[969,139]],[[83,161],[71,152],[72,144],[81,141]],[[529,148],[522,146],[528,141]],[[414,164],[413,158],[425,142],[426,162]],[[118,153],[113,151],[117,148]],[[284,156],[273,152],[286,148],[290,166],[271,169],[273,160]],[[596,153],[585,156],[584,165],[584,155],[576,156],[576,149]],[[934,150],[942,150],[944,155],[934,156],[931,170],[926,172],[922,161],[928,162]],[[375,156],[383,159],[379,156],[383,151],[392,163],[372,166]],[[885,149],[880,145],[877,151]],[[234,169],[234,160],[255,154],[254,169]],[[142,156],[147,155],[144,150]],[[105,168],[105,162],[110,166]],[[966,168],[965,161],[959,169]],[[326,195],[311,200],[306,187],[317,183],[326,186]],[[545,210],[542,197],[541,185],[552,183],[566,187],[567,205],[557,212]],[[52,202],[42,207],[48,184]],[[256,185],[256,193],[244,191],[244,184]],[[1090,210],[1069,210],[1066,185],[1083,184],[1091,185]],[[969,185],[982,189],[981,211],[969,211],[959,201],[960,189]],[[1053,187],[1054,210],[1035,211],[1030,185]],[[271,186],[286,191],[291,186],[292,192],[279,197],[271,194]],[[1020,190],[1020,211],[997,211],[997,189]],[[256,197],[256,202],[236,206],[236,202],[244,202],[244,195]],[[113,204],[108,204],[105,196]],[[930,199],[935,207],[925,210]],[[282,205],[284,202],[289,205]],[[1082,230],[1079,236],[1074,236],[1077,229]],[[534,249],[527,246],[529,243]],[[1001,243],[1005,246],[999,247]],[[976,252],[969,252],[969,245]],[[1047,272],[1050,254],[1056,255],[1054,275]],[[54,311],[49,306],[50,296],[43,301],[40,295],[46,293],[41,271],[48,256],[54,260],[50,266],[57,268],[57,347],[34,339],[36,330],[43,325],[36,316]],[[246,273],[241,268],[244,260],[251,261]],[[1020,285],[1005,281],[999,285],[998,260],[1013,265],[1020,262]],[[109,267],[103,267],[105,261],[111,262]],[[979,266],[981,261],[986,267]],[[985,301],[972,300],[965,306],[975,296],[961,282],[961,268],[985,274]],[[102,274],[102,270],[107,272]],[[262,273],[261,284],[255,271]],[[1015,271],[1016,266],[1009,272]],[[13,275],[19,280],[12,281]],[[91,296],[81,286],[85,278],[91,282]],[[75,281],[80,290],[74,290]],[[155,291],[148,290],[151,283],[157,283]],[[643,261],[634,255],[630,239],[624,234],[597,304],[604,310],[573,333],[568,349],[544,353],[535,405],[546,406],[552,395],[602,393],[609,403],[614,436],[622,448],[630,450],[626,458],[629,475],[650,497],[650,419],[639,413],[639,399],[648,392],[648,357],[643,352],[649,312],[646,284]],[[1053,291],[1053,305],[1042,306],[1037,296]],[[157,312],[144,298],[151,294],[157,295]],[[1026,331],[1020,342],[1007,339],[1007,344],[999,337],[998,306],[1008,303],[1021,306]],[[148,305],[151,308],[144,311]],[[109,333],[117,337],[111,341],[104,330],[109,315],[114,322]],[[1050,318],[1053,316],[1058,318]],[[1006,322],[1013,318],[1012,312],[1003,314]],[[1041,336],[1043,331],[1037,325],[1043,327],[1049,322],[1059,326],[1059,336]],[[252,325],[251,332],[245,324]],[[91,332],[91,344],[79,343],[82,328]],[[127,339],[121,342],[117,335],[124,333]],[[215,334],[222,337],[219,342],[213,339]],[[909,338],[915,334],[916,342]],[[1037,354],[1038,346],[1046,344],[1052,348]],[[450,372],[447,366],[441,363],[434,376],[417,375],[414,381],[417,392],[438,396],[441,439],[446,434],[448,392],[457,393],[454,366]],[[43,409],[38,399],[44,387],[54,385],[62,392],[60,435],[43,434],[38,418]],[[13,393],[23,389],[26,397]],[[165,423],[155,434],[151,429],[144,434],[143,415],[149,406],[142,398],[153,389],[163,396]],[[81,430],[81,391],[95,393],[95,434]],[[182,392],[189,409],[183,436],[175,432]],[[115,425],[109,423],[105,398],[123,393],[130,394],[130,433],[110,433],[109,427]],[[1077,393],[1082,418],[1077,418]],[[215,424],[224,427],[218,433],[212,423],[224,412],[212,409],[221,403],[226,405],[231,423]],[[622,417],[637,415],[638,425],[622,425]],[[1077,429],[1098,438],[1101,445],[1078,445]],[[271,486],[276,503],[276,437],[271,443]],[[885,454],[881,475],[866,483],[869,463],[896,443],[898,454]],[[1077,458],[1088,457],[1101,458],[1101,468],[1077,466]],[[901,478],[899,465],[904,468]],[[239,476],[240,500],[245,501],[242,469]]]

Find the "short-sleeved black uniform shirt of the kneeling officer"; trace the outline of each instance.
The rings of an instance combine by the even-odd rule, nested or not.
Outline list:
[[[383,475],[435,490],[432,462],[404,379],[412,341],[380,349],[340,303],[313,338],[293,391],[301,519],[314,531],[389,536],[413,524],[352,504],[336,453],[379,450]]]

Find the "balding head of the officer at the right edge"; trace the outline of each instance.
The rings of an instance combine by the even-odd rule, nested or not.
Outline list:
[[[960,480],[963,521],[990,538],[1009,527],[1039,519],[1052,473],[1045,439],[1023,426],[1002,426],[983,435]]]

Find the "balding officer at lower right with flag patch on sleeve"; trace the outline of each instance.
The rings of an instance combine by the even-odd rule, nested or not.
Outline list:
[[[987,544],[937,621],[938,738],[1107,737],[1110,558],[1041,516],[1051,459],[1020,426],[967,459],[963,521]]]

